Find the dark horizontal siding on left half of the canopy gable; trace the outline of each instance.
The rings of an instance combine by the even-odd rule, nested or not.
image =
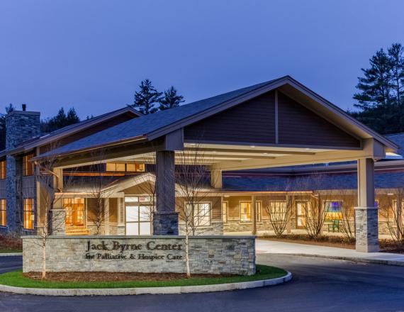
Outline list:
[[[193,123],[184,130],[186,140],[247,143],[275,142],[274,92]]]

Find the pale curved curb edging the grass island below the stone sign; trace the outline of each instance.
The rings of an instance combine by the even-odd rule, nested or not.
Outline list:
[[[128,296],[140,294],[187,294],[274,286],[288,282],[291,279],[292,274],[291,272],[288,272],[288,274],[286,274],[284,277],[278,277],[276,279],[263,279],[260,281],[230,284],[106,289],[45,289],[0,285],[0,291],[11,292],[14,294],[30,294],[40,296]]]

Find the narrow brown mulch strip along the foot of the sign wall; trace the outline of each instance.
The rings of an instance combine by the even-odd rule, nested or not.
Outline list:
[[[41,272],[23,274],[30,279],[41,279]],[[234,277],[231,274],[192,274],[192,278]],[[54,282],[118,282],[118,281],[172,281],[185,279],[183,273],[137,273],[137,272],[47,272],[45,280]]]

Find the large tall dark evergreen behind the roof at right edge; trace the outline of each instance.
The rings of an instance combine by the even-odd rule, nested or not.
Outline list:
[[[349,111],[355,118],[374,130],[387,134],[404,131],[404,48],[394,43],[369,60],[370,67],[362,69],[364,77],[358,77],[358,93],[354,107]]]

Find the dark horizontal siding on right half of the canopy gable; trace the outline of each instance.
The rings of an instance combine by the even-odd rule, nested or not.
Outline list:
[[[360,147],[357,138],[281,92],[278,106],[280,144]]]

